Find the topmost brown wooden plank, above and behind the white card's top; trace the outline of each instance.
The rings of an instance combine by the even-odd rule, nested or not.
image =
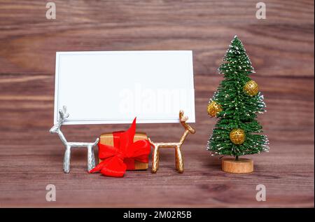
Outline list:
[[[53,74],[56,51],[172,49],[214,74],[237,34],[258,75],[314,76],[314,1],[265,1],[267,20],[256,1],[55,2],[57,20],[38,1],[0,3],[0,73]]]

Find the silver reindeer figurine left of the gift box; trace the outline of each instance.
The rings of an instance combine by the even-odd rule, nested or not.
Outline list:
[[[57,133],[64,146],[66,146],[66,151],[64,151],[64,172],[67,174],[70,172],[70,155],[71,155],[71,147],[87,147],[87,171],[90,172],[91,169],[95,167],[95,157],[93,147],[97,145],[99,142],[99,138],[97,138],[94,143],[82,143],[82,142],[68,142],[66,141],[66,137],[60,130],[62,123],[64,120],[69,117],[69,113],[66,112],[66,106],[63,109],[59,110],[59,120],[56,125],[51,127],[49,130],[50,133]]]

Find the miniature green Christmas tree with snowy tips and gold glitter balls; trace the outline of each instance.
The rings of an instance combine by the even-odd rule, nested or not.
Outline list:
[[[257,113],[265,112],[265,102],[255,81],[255,73],[241,41],[235,36],[218,69],[224,80],[209,101],[208,113],[218,117],[208,150],[212,155],[248,155],[269,150]]]

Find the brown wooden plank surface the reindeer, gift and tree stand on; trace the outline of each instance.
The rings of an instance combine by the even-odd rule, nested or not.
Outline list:
[[[251,156],[253,174],[227,174],[204,148],[184,144],[184,174],[174,171],[174,151],[165,149],[157,174],[127,172],[123,178],[87,174],[83,149],[73,150],[71,173],[64,174],[61,143],[23,144],[12,152],[16,148],[1,147],[1,207],[314,206],[313,145],[298,146],[298,155],[297,146],[272,145],[270,153]],[[49,183],[57,188],[56,202],[45,201]],[[267,188],[266,202],[255,200],[258,184]]]

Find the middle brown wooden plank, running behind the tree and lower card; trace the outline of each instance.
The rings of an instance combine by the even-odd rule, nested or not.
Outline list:
[[[45,76],[45,78],[43,78]],[[55,137],[50,137],[47,130],[52,126],[53,119],[53,95],[54,77],[51,75],[28,75],[25,81],[21,81],[20,75],[1,76],[0,78],[0,134],[1,144],[20,144],[13,140],[18,132],[25,134],[29,143],[33,141],[33,134],[23,132],[31,126],[34,134],[41,135],[44,141],[58,142]],[[253,77],[260,85],[267,103],[267,113],[258,118],[264,126],[265,133],[272,143],[300,144],[314,143],[314,81],[309,78],[271,78]],[[5,80],[4,83],[2,81]],[[11,83],[8,83],[8,80]],[[193,136],[194,143],[205,144],[211,128],[216,123],[216,118],[207,115],[207,103],[216,90],[222,77],[197,75],[195,76],[195,107],[197,123],[195,125],[197,135]],[[300,89],[302,87],[303,89]],[[97,109],[97,107],[95,107]],[[297,115],[298,113],[298,115]],[[34,121],[37,119],[37,121]],[[174,132],[167,135],[163,133],[165,124],[139,125],[139,130],[147,132],[155,141],[158,137],[167,140],[177,140],[181,134],[181,127],[169,124]],[[127,128],[128,125],[89,125],[66,126],[64,132],[70,138],[87,141],[97,137],[102,132],[111,132]],[[86,130],[89,133],[86,133]],[[290,138],[290,140],[288,140]],[[190,141],[190,139],[188,139]]]

